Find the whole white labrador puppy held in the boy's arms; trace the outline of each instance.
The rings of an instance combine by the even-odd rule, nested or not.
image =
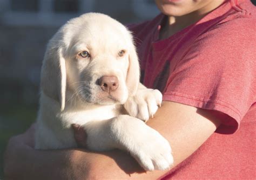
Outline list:
[[[132,36],[118,21],[99,13],[68,21],[46,49],[35,148],[76,147],[78,124],[89,149],[123,149],[145,170],[168,169],[169,142],[142,121],[162,96],[139,85],[139,74]]]

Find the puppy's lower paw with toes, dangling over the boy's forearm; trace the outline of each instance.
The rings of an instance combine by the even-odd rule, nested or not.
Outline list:
[[[158,132],[147,134],[147,140],[139,143],[132,155],[147,171],[170,169],[173,164],[169,142]]]

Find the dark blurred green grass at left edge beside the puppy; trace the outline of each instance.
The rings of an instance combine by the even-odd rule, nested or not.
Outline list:
[[[23,133],[36,120],[38,109],[37,105],[13,104],[0,105],[0,179],[3,178],[3,153],[9,138]]]

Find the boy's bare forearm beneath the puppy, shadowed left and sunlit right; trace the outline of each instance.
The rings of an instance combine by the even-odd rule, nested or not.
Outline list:
[[[5,179],[118,179],[145,174],[138,163],[121,150],[103,153],[84,149],[35,150],[18,142],[20,138],[15,137],[9,142],[10,148],[5,154]]]

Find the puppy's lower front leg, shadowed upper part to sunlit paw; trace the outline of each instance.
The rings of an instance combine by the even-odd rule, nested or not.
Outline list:
[[[104,121],[88,123],[87,146],[91,150],[123,149],[145,170],[168,169],[173,163],[169,142],[143,121],[120,115]]]

